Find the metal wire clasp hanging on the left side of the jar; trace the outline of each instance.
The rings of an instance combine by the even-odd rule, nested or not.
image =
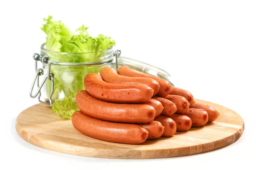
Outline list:
[[[35,98],[36,96],[38,96],[38,101],[47,105],[47,106],[51,106],[52,105],[52,94],[53,94],[53,90],[54,90],[54,74],[53,73],[50,73],[50,69],[51,69],[51,62],[49,61],[49,58],[47,56],[43,56],[41,57],[39,54],[35,53],[33,54],[33,59],[35,60],[35,77],[33,79],[33,82],[32,82],[32,85],[31,85],[31,88],[30,88],[30,91],[29,91],[29,96],[31,98]],[[38,69],[38,65],[37,65],[37,62],[38,61],[41,61],[42,63],[46,64],[48,63],[48,71],[47,71],[47,74],[46,76],[44,77],[43,79],[43,82],[41,82],[41,85],[39,86],[39,77],[41,75],[44,75],[44,70],[42,68],[39,68]],[[40,99],[41,97],[41,88],[43,87],[46,79],[49,79],[51,80],[52,82],[52,88],[51,88],[51,93],[49,95],[49,103],[48,102],[44,102]],[[35,86],[35,82],[37,82],[37,92],[35,93],[35,95],[32,95],[32,92],[33,92],[33,89],[34,89],[34,86]]]

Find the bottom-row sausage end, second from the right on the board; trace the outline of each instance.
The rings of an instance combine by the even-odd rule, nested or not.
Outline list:
[[[203,109],[189,108],[184,115],[192,120],[192,127],[201,127],[208,122],[208,113]]]

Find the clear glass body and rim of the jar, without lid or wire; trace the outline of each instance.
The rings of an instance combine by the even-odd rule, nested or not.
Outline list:
[[[50,66],[50,72],[54,74],[54,91],[51,97],[52,102],[54,102],[56,99],[63,99],[65,96],[75,99],[76,94],[84,90],[83,80],[86,74],[99,74],[103,67],[111,66],[113,48],[90,53],[62,53],[49,51],[45,49],[45,44],[43,44],[41,45],[41,56],[47,56],[49,61],[53,63]],[[97,64],[102,61],[106,62]],[[68,65],[69,63],[77,63],[78,65]],[[88,65],[79,65],[79,63],[87,63]],[[43,70],[44,74],[47,74],[48,64],[43,64]],[[51,90],[52,83],[47,79],[41,89],[41,98],[45,102],[49,102]]]

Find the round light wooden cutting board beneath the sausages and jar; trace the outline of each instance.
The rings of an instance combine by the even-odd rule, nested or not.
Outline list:
[[[79,133],[71,120],[51,113],[51,108],[37,104],[19,114],[17,133],[27,142],[60,153],[109,159],[158,159],[194,155],[225,147],[244,131],[244,121],[236,112],[215,103],[220,116],[204,127],[192,127],[172,137],[147,140],[143,144],[119,144],[91,138]]]

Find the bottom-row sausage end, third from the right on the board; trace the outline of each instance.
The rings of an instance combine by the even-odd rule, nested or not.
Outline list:
[[[192,126],[192,120],[186,115],[174,114],[170,118],[176,123],[177,131],[187,131]]]

